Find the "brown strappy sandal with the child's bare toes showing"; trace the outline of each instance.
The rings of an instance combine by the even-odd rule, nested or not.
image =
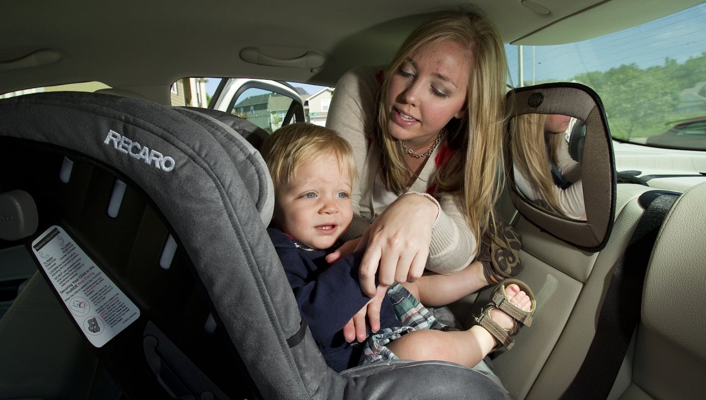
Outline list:
[[[527,296],[530,297],[530,301],[532,301],[530,311],[522,310],[521,308],[517,308],[517,306],[513,303],[510,303],[508,295],[505,293],[505,286],[508,286],[509,284],[516,284],[517,286],[520,286],[520,290],[527,293]],[[510,350],[515,344],[512,337],[520,331],[520,327],[525,325],[529,327],[532,325],[532,315],[534,315],[534,310],[536,307],[537,304],[534,301],[534,292],[530,289],[530,286],[527,286],[527,284],[525,284],[524,281],[520,281],[520,279],[505,279],[498,284],[495,289],[493,289],[493,293],[491,294],[491,303],[486,305],[481,310],[480,317],[476,317],[475,320],[478,325],[487,329],[488,332],[490,332],[490,334],[497,339],[498,346],[493,348],[493,351],[500,349],[501,346],[504,346],[505,349]],[[515,326],[513,329],[504,329],[498,325],[497,322],[493,321],[493,318],[490,317],[490,312],[495,308],[503,310],[507,315],[510,315],[510,317],[515,320]]]

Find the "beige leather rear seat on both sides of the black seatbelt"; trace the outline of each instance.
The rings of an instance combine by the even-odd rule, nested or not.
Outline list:
[[[644,212],[638,198],[649,190],[617,186],[615,223],[599,253],[574,248],[517,215],[525,265],[518,277],[534,289],[538,312],[532,327],[517,334],[517,346],[493,358],[496,375],[516,399],[559,399],[573,381],[593,339],[613,267]],[[706,184],[690,190],[662,228],[647,272],[635,354],[626,356],[611,399],[699,397],[696,383],[706,372],[700,329],[706,296],[699,286],[706,281],[705,196]],[[674,274],[675,269],[687,272]],[[453,310],[470,326],[486,299],[481,292],[471,307]]]

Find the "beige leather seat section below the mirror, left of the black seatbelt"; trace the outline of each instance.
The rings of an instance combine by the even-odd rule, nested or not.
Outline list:
[[[522,240],[525,269],[517,276],[537,295],[532,327],[522,329],[510,351],[494,355],[494,372],[516,399],[559,399],[578,372],[590,347],[613,267],[623,254],[644,210],[638,202],[647,186],[621,184],[609,243],[588,253],[546,234],[524,217],[515,217]],[[503,217],[510,205],[503,198]],[[463,325],[472,325],[473,309],[486,302],[486,291],[474,305],[453,308]],[[623,376],[623,389],[627,380]],[[618,392],[620,393],[620,392]]]

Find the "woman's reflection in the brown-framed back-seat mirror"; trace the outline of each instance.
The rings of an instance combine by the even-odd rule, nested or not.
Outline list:
[[[581,164],[568,152],[570,116],[516,116],[512,140],[515,183],[535,204],[573,219],[586,219]]]

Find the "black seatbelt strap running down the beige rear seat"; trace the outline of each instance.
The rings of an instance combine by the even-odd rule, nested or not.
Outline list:
[[[650,195],[654,193],[647,192],[640,200]],[[677,197],[658,193],[646,207],[628,247],[614,267],[586,358],[561,399],[606,399],[610,394],[640,320],[642,286],[654,240]]]

